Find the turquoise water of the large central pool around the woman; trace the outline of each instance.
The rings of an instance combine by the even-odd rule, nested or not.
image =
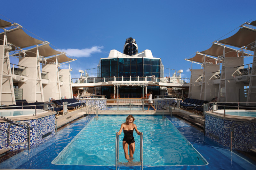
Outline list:
[[[60,165],[115,165],[115,132],[126,119],[124,116],[100,116],[94,118],[60,152],[52,163]],[[135,124],[143,134],[144,165],[206,165],[207,162],[179,132],[177,128],[162,116],[135,116]],[[115,123],[113,123],[115,122]],[[96,130],[97,129],[97,130]],[[135,153],[133,162],[140,161],[140,136],[134,131]],[[122,140],[119,136],[119,159],[124,157]]]

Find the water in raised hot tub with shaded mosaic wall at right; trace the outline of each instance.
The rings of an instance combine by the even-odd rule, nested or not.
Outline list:
[[[216,110],[213,113],[224,115],[224,110]],[[256,117],[256,110],[226,110],[226,115]]]

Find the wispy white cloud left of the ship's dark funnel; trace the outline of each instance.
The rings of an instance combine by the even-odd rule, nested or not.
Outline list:
[[[90,57],[93,53],[101,53],[101,49],[103,46],[93,46],[92,48],[84,48],[84,49],[60,49],[61,51],[66,52],[68,55],[73,57]]]

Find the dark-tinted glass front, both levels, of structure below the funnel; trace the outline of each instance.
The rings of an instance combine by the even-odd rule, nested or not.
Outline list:
[[[118,80],[124,81],[138,80],[139,78],[146,78],[147,76],[160,77],[161,76],[161,59],[160,58],[145,58],[145,57],[125,57],[125,58],[103,58],[100,59],[100,77],[109,78],[114,77]],[[149,79],[148,81],[151,81]],[[152,91],[154,95],[159,95],[159,87],[147,86],[147,92]],[[146,88],[144,87],[144,95]],[[113,86],[102,86],[101,94],[106,95],[107,98],[111,98],[114,94]],[[120,86],[119,87],[120,98],[141,98],[142,87],[141,86]]]

